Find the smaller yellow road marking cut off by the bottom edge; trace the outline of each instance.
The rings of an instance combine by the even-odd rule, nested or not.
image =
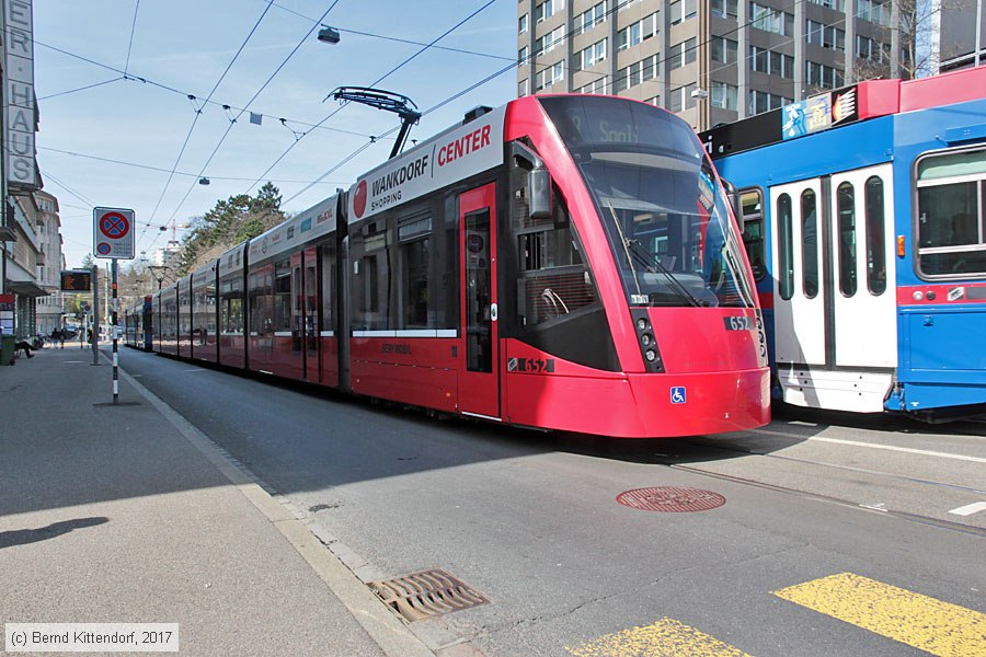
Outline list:
[[[575,657],[749,657],[674,619],[661,619],[565,649]]]

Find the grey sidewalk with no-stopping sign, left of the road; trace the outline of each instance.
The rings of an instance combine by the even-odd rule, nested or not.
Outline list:
[[[177,623],[182,655],[432,654],[139,384],[112,399],[78,344],[0,367],[0,623]]]

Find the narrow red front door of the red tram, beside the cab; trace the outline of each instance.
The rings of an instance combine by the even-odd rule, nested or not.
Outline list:
[[[495,184],[459,195],[459,411],[500,418]]]

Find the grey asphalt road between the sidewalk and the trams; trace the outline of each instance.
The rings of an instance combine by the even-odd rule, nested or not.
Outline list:
[[[615,443],[439,420],[133,350],[121,360],[307,509],[363,580],[444,568],[490,599],[412,623],[433,647],[986,655],[986,510],[950,512],[986,502],[986,424],[784,411],[760,431]],[[725,504],[656,512],[616,500],[652,486]]]

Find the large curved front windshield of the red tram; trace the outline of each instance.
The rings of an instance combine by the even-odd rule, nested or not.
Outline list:
[[[753,307],[742,241],[685,122],[612,97],[540,102],[593,195],[631,306]]]

